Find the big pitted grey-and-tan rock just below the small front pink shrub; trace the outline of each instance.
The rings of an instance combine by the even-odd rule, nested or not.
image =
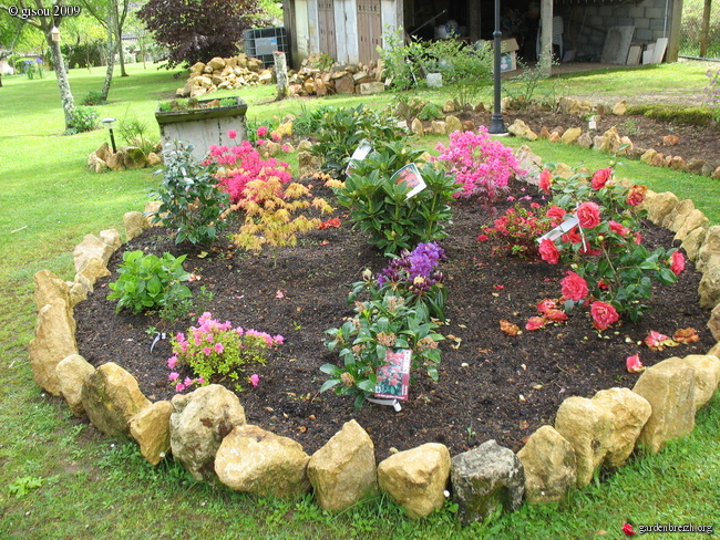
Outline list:
[[[218,384],[203,386],[171,401],[173,455],[197,480],[213,478],[215,454],[235,426],[245,424],[238,397]]]

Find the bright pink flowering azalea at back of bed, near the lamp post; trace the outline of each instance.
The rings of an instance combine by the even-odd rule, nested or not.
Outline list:
[[[521,174],[513,149],[498,141],[493,141],[485,126],[476,132],[453,132],[450,146],[439,143],[441,153],[439,162],[445,162],[455,181],[462,185],[456,197],[479,198],[492,205],[498,195],[507,188],[507,181],[514,174]]]

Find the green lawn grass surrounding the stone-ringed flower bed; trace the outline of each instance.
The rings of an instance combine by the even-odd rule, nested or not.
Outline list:
[[[156,129],[153,112],[172,97],[182,79],[175,72],[130,66],[117,77],[100,116],[134,115]],[[71,71],[80,101],[102,84],[103,72]],[[610,86],[636,87],[649,77],[652,86],[697,90],[687,64],[652,70],[623,70],[563,80],[582,94]],[[677,89],[677,81],[683,87]],[[688,86],[686,87],[686,81]],[[111,440],[70,416],[60,398],[45,395],[33,382],[27,357],[35,309],[32,276],[49,269],[72,279],[71,251],[84,235],[106,228],[123,230],[125,211],[140,210],[156,180],[150,170],[95,175],[85,170],[88,155],[107,139],[103,131],[62,136],[63,116],[52,74],[44,80],[3,77],[0,89],[0,538],[2,539],[219,539],[362,538],[362,539],[577,539],[621,538],[626,520],[712,525],[720,506],[720,397],[698,417],[698,428],[660,454],[634,458],[603,481],[572,492],[560,505],[524,507],[491,525],[461,529],[446,509],[411,521],[383,498],[363,502],[340,516],[329,516],[310,499],[284,502],[258,499],[192,480],[172,460],[153,468],[133,443]],[[672,84],[671,84],[672,83]],[[649,86],[645,86],[649,87]],[[689,89],[689,90],[688,90]],[[445,91],[446,92],[446,91]],[[232,92],[219,94],[229,95]],[[244,90],[249,116],[257,120],[300,105],[357,105],[369,98],[332,97],[271,103],[272,89]],[[428,94],[442,103],[448,94]],[[490,91],[486,93],[486,100]],[[613,96],[608,95],[608,100]],[[383,106],[389,95],[373,96]],[[155,132],[156,133],[156,132]],[[436,141],[423,139],[433,147]],[[506,144],[518,144],[512,138]],[[562,145],[533,143],[546,160],[606,166],[608,157]],[[621,169],[652,189],[671,189],[692,198],[713,224],[720,205],[712,180],[631,162]],[[16,495],[17,494],[17,495]],[[659,534],[647,538],[678,538]]]

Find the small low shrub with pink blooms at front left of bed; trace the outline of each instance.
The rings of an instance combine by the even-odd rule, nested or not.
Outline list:
[[[203,313],[186,333],[173,338],[173,355],[167,360],[171,370],[169,382],[176,392],[193,385],[239,381],[246,366],[267,363],[269,350],[281,345],[281,335],[267,334],[257,330],[233,326],[229,321],[219,322],[210,313]],[[195,378],[183,377],[181,372],[189,370]]]

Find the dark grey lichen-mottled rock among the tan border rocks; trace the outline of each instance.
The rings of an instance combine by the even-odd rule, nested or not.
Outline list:
[[[463,525],[520,509],[525,491],[521,460],[492,439],[452,458],[451,481]]]

